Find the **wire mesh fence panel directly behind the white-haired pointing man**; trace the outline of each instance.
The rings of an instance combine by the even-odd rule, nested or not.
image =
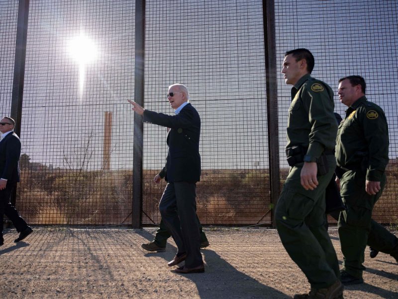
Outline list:
[[[168,87],[183,83],[201,117],[200,221],[270,223],[262,2],[152,0],[146,9],[145,107],[172,115]],[[143,222],[158,223],[165,184],[152,180],[167,131],[144,131]]]

